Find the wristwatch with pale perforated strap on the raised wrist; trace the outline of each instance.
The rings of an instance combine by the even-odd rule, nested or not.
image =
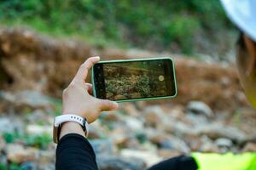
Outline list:
[[[77,122],[84,130],[85,137],[88,136],[89,128],[88,122],[85,118],[77,115],[61,115],[55,116],[54,128],[53,128],[53,140],[55,144],[58,144],[61,133],[61,125],[63,122]]]

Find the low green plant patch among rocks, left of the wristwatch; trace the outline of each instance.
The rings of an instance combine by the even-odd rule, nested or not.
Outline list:
[[[19,140],[28,146],[37,147],[45,150],[49,143],[52,142],[51,137],[46,134],[38,134],[38,135],[28,135],[28,134],[20,134],[20,133],[3,133],[3,138],[6,143],[14,143]]]

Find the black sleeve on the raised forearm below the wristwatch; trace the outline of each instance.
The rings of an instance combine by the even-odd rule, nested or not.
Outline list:
[[[70,133],[61,138],[56,150],[56,170],[97,170],[96,156],[83,136]]]

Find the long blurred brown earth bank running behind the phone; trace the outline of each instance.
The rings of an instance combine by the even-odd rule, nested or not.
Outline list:
[[[236,98],[241,91],[234,66],[219,63],[207,64],[182,55],[157,54],[137,49],[121,50],[116,48],[90,47],[84,42],[55,40],[38,35],[26,29],[1,28],[0,48],[1,71],[8,73],[12,83],[4,81],[3,87],[11,89],[42,90],[48,94],[61,96],[61,89],[73,78],[84,56],[99,54],[104,59],[134,59],[135,57],[174,56],[177,73],[177,103],[188,103],[191,99],[205,101],[217,109],[228,108],[234,111],[242,104]],[[29,36],[27,36],[29,35]],[[40,61],[40,62],[38,62]],[[55,62],[58,61],[58,62]],[[64,69],[67,68],[68,69]],[[193,74],[191,74],[193,72]],[[225,79],[229,79],[226,81]],[[228,91],[228,95],[224,95]],[[213,93],[214,92],[214,93]],[[209,94],[211,95],[209,97]],[[155,102],[170,103],[170,100]]]

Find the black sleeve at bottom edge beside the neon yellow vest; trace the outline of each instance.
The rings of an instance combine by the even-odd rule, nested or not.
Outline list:
[[[190,156],[177,156],[150,167],[148,170],[196,170],[195,159]]]

